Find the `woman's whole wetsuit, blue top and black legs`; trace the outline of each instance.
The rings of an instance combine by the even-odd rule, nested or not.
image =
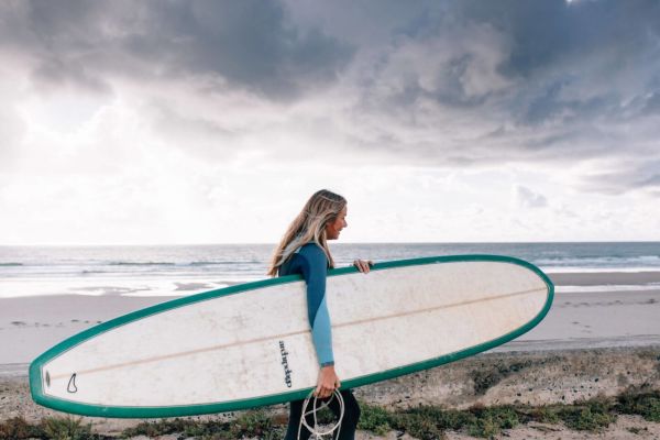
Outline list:
[[[278,273],[279,276],[300,274],[307,283],[307,316],[311,328],[311,339],[321,367],[334,364],[330,315],[328,314],[328,306],[326,304],[327,273],[328,258],[326,257],[326,253],[315,243],[308,243],[299,248],[279,267]],[[344,417],[341,429],[336,433],[334,439],[353,440],[355,438],[358,419],[360,418],[360,407],[350,389],[342,389],[340,393],[344,399]],[[302,414],[302,402],[295,400],[290,404],[289,424],[285,440],[297,439],[300,416]],[[337,399],[332,400],[330,409],[339,417]],[[308,416],[307,422],[311,426],[314,419]],[[309,436],[310,432],[302,427],[300,439],[307,440]]]

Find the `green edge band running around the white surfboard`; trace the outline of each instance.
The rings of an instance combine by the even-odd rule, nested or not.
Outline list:
[[[518,266],[522,266],[528,268],[529,271],[536,273],[547,285],[548,295],[546,299],[546,304],[539,314],[534,317],[530,321],[525,323],[524,326],[510,331],[509,333],[503,334],[502,337],[470,346],[464,350],[460,350],[453,353],[444,354],[439,358],[430,359],[424,362],[405,365],[400,367],[396,367],[393,370],[387,370],[384,372],[370,374],[361,377],[354,377],[351,380],[342,381],[342,388],[354,388],[362,385],[372,384],[375,382],[381,382],[394,377],[398,377],[406,374],[416,373],[419,371],[428,370],[435,366],[439,366],[442,364],[447,364],[450,362],[458,361],[463,358],[468,358],[487,350],[491,350],[495,346],[502,345],[513,339],[520,337],[521,334],[528,332],[534,327],[536,327],[548,314],[550,307],[552,305],[552,300],[554,298],[554,285],[550,280],[550,278],[537,266],[534,264],[526,262],[524,260],[519,260],[512,256],[502,256],[502,255],[449,255],[449,256],[431,256],[431,257],[422,257],[422,258],[411,258],[411,260],[398,260],[391,262],[376,263],[372,266],[372,271],[383,271],[387,268],[394,267],[403,267],[403,266],[414,266],[414,265],[427,265],[427,264],[442,264],[442,263],[454,263],[454,262],[499,262],[499,263],[509,263]],[[346,274],[352,274],[358,272],[355,267],[342,267],[330,270],[328,272],[328,276],[342,276]],[[55,398],[44,394],[43,392],[43,377],[42,377],[42,366],[46,364],[48,361],[57,358],[59,354],[73,349],[74,346],[87,341],[91,338],[95,338],[103,332],[107,332],[111,329],[116,329],[118,327],[124,326],[129,322],[136,321],[139,319],[143,319],[145,317],[161,314],[166,310],[172,310],[178,307],[184,307],[190,304],[206,301],[209,299],[219,298],[228,295],[237,295],[243,292],[250,292],[267,286],[288,284],[294,282],[301,280],[301,276],[299,275],[289,275],[283,276],[278,278],[268,278],[253,283],[246,283],[241,285],[235,285],[231,287],[224,287],[216,290],[210,290],[197,295],[191,295],[184,298],[177,298],[170,301],[162,302],[152,307],[147,307],[141,310],[133,311],[128,315],[120,316],[107,322],[100,323],[92,328],[89,328],[78,334],[75,334],[63,342],[56,344],[52,349],[47,350],[38,358],[36,358],[30,364],[30,391],[32,394],[32,398],[38,405],[53,408],[64,413],[78,414],[82,416],[91,416],[91,417],[113,417],[113,418],[160,418],[160,417],[182,417],[182,416],[195,416],[201,414],[213,414],[213,413],[226,413],[226,411],[234,411],[240,409],[254,408],[258,406],[265,405],[275,405],[282,404],[290,400],[302,399],[309,395],[309,393],[314,388],[305,388],[289,393],[263,396],[258,398],[250,398],[250,399],[241,399],[241,400],[232,400],[232,402],[222,402],[222,403],[208,403],[200,405],[186,405],[186,406],[158,406],[158,407],[130,407],[130,406],[97,406],[97,405],[88,405],[88,404],[79,404],[76,402],[70,402],[62,398]]]

